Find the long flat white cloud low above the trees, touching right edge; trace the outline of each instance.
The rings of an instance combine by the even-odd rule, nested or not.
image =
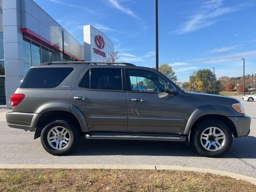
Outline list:
[[[199,58],[193,59],[191,62],[198,62],[201,64],[215,64],[215,63],[224,63],[224,62],[234,62],[240,60],[240,58],[256,58],[256,50],[241,52],[236,54],[228,54],[223,56],[216,56],[210,58]]]

